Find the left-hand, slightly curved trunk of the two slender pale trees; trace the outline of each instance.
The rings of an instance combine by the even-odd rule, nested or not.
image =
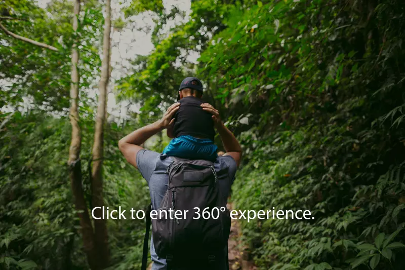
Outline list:
[[[80,12],[80,0],[74,1],[73,10],[73,31],[78,28],[78,15]],[[97,253],[94,245],[93,227],[90,220],[87,204],[82,187],[82,165],[80,162],[80,147],[82,145],[82,135],[79,126],[79,114],[77,110],[79,96],[79,73],[78,60],[79,53],[77,50],[77,34],[75,34],[72,45],[72,71],[71,71],[71,88],[70,88],[70,113],[69,119],[72,126],[72,139],[69,148],[69,177],[74,197],[74,205],[79,217],[80,226],[82,227],[83,246],[87,255],[87,261],[90,268],[95,270],[97,266]]]

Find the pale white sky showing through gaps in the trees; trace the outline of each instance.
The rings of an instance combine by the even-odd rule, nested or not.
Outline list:
[[[51,0],[37,0],[38,6],[46,8],[47,4]],[[124,19],[123,12],[120,10],[130,5],[131,0],[111,0],[111,14],[112,21],[121,17]],[[168,21],[162,29],[162,33],[166,34],[174,25],[188,20],[188,15],[191,13],[191,1],[190,0],[163,0],[163,5],[166,12],[171,10],[172,6],[177,6],[179,10],[186,12],[186,18],[183,20],[181,16],[176,16],[174,20]],[[132,16],[125,21],[128,22],[126,27],[119,31],[111,31],[111,80],[109,84],[110,93],[108,94],[107,111],[109,117],[115,118],[116,121],[123,120],[127,117],[128,109],[131,111],[138,111],[139,106],[136,104],[129,104],[128,102],[121,102],[116,104],[114,94],[111,89],[114,89],[115,80],[128,74],[128,70],[131,68],[131,61],[138,55],[150,54],[154,47],[151,43],[151,33],[153,31],[154,23],[152,21],[152,12],[145,12],[136,16]],[[101,56],[102,57],[102,56]],[[188,55],[187,60],[196,63],[199,54],[194,52]],[[101,67],[100,67],[101,68]],[[89,89],[88,93],[90,97],[95,98],[98,92],[99,78],[95,78],[94,89]],[[2,82],[4,86],[5,82]],[[25,99],[29,103],[29,99]],[[25,104],[24,104],[25,105]],[[26,104],[28,105],[28,104]],[[29,105],[28,105],[29,106]],[[10,108],[0,108],[0,110],[7,111]]]

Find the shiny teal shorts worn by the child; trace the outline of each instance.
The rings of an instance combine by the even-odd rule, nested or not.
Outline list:
[[[218,157],[218,147],[210,139],[197,139],[182,135],[170,141],[163,153],[189,160],[208,160],[214,162]]]

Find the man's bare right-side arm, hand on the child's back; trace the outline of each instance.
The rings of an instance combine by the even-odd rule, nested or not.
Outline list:
[[[212,119],[214,121],[215,128],[217,129],[219,136],[221,137],[222,144],[224,145],[226,153],[223,156],[231,156],[235,162],[236,166],[239,167],[240,160],[242,158],[242,148],[235,136],[230,132],[230,130],[225,127],[222,123],[219,112],[209,103],[201,104],[204,110],[212,114]]]

